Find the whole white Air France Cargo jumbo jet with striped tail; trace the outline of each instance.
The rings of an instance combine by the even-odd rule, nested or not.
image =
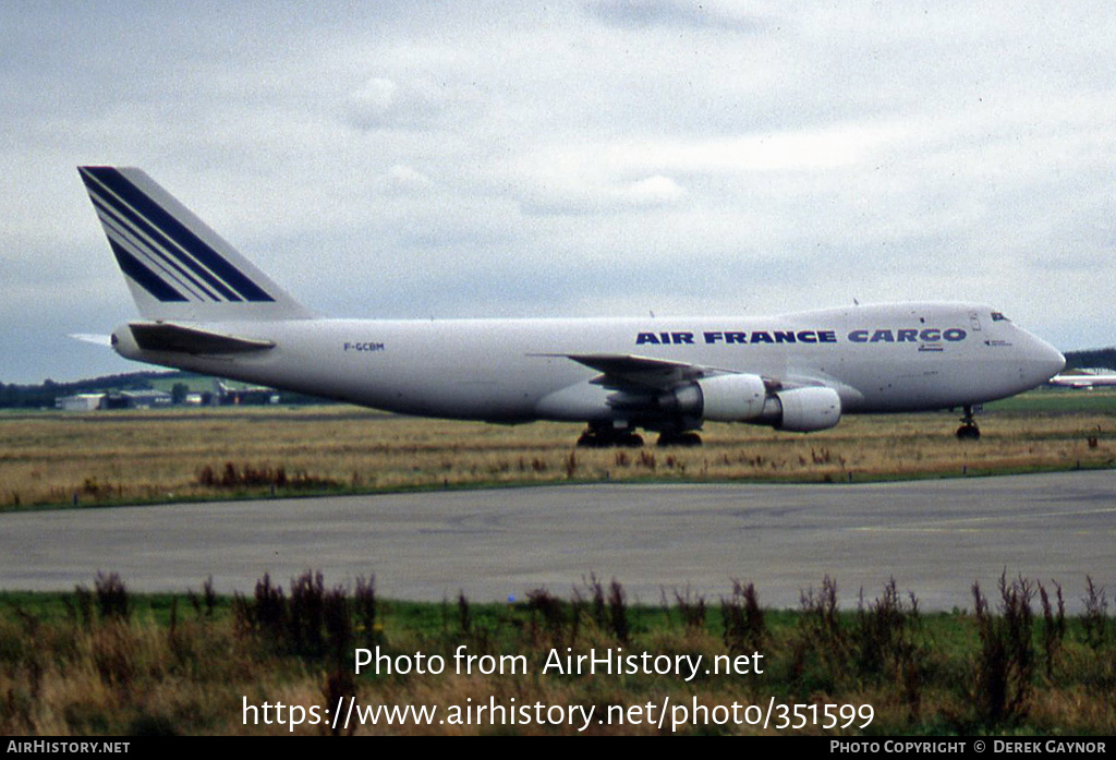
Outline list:
[[[404,414],[578,421],[579,445],[696,445],[706,420],[809,432],[841,414],[963,407],[1046,383],[1054,347],[977,304],[770,317],[327,319],[138,169],[81,180],[142,315],[122,356]]]

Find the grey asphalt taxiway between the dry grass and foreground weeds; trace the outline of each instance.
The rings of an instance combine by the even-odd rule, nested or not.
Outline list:
[[[923,609],[972,607],[979,580],[1086,575],[1116,589],[1116,471],[875,484],[598,484],[282,499],[0,516],[0,587],[70,590],[116,571],[134,590],[250,594],[270,573],[327,586],[375,575],[384,597],[569,597],[596,574],[631,602],[710,603],[751,581],[793,608],[825,576],[843,607],[889,578]]]

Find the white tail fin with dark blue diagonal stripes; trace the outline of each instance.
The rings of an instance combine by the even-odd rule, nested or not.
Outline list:
[[[144,318],[254,321],[314,316],[143,171],[78,171]]]

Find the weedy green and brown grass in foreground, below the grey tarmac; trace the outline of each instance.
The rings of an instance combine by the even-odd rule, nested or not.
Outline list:
[[[74,594],[0,594],[0,733],[1116,732],[1116,636],[1103,593],[1090,589],[1090,612],[1066,616],[1058,603],[1079,589],[1003,578],[999,589],[979,589],[982,603],[974,594],[972,613],[924,615],[894,584],[841,610],[827,583],[797,612],[766,610],[761,589],[740,586],[719,600],[664,594],[660,606],[633,607],[615,581],[595,579],[571,599],[537,591],[514,605],[384,602],[371,583],[330,588],[311,574],[286,593],[261,579],[253,596],[234,599],[133,597],[113,576]],[[357,674],[358,647],[379,647],[387,664]],[[471,672],[454,658],[460,647],[478,657]],[[646,652],[658,663],[701,656],[702,667],[547,668],[605,652]],[[414,672],[419,653],[426,663],[442,657],[444,672]],[[716,658],[732,672],[706,672]],[[433,706],[448,720],[331,729],[324,711],[350,698],[364,710]],[[268,723],[244,710],[263,703],[272,705]],[[277,703],[297,705],[302,722],[278,723]],[[547,719],[449,720],[453,709],[482,704],[541,704]],[[769,704],[788,710],[764,728]],[[593,721],[554,719],[588,709]]]

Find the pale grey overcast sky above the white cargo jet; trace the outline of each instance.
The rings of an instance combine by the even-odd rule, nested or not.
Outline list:
[[[347,317],[992,305],[1116,344],[1096,2],[0,3],[0,381],[143,368],[76,166]]]

